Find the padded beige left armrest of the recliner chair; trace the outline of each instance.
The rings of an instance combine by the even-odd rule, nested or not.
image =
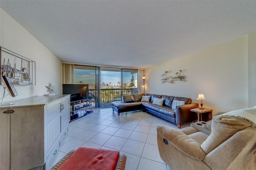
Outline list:
[[[197,160],[203,160],[206,156],[200,144],[183,132],[166,126],[157,126],[156,131],[157,135],[162,136],[162,138],[168,141],[168,144],[172,144],[184,154]]]

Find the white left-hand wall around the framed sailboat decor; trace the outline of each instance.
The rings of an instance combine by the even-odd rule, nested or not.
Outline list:
[[[55,94],[62,93],[60,59],[38,42],[2,8],[0,8],[0,45],[36,62],[36,85],[15,85],[18,96],[10,97],[8,95],[4,98],[5,102],[44,95],[47,90],[45,86],[48,86],[48,83],[52,83],[54,86]],[[3,91],[3,85],[0,85],[0,98],[2,98]]]

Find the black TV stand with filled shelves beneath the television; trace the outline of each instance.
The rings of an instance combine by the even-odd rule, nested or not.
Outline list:
[[[89,113],[93,113],[91,108],[92,101],[93,99],[81,99],[78,101],[70,102],[70,121],[74,121],[79,117],[85,116]]]

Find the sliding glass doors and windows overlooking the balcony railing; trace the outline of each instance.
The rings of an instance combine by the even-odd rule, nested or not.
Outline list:
[[[92,107],[111,107],[111,102],[120,101],[122,95],[139,93],[138,69],[74,65],[69,71],[72,73],[73,84],[89,85]]]

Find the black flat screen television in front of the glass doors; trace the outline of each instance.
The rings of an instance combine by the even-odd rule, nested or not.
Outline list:
[[[70,94],[70,101],[89,98],[88,84],[62,84],[62,94]]]

